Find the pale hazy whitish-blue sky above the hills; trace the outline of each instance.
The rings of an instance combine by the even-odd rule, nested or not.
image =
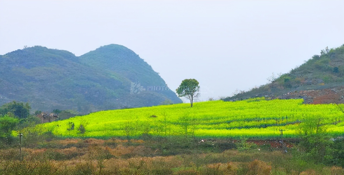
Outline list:
[[[344,44],[343,9],[343,0],[0,0],[0,55],[40,45],[80,56],[120,44],[172,90],[195,78],[206,101]]]

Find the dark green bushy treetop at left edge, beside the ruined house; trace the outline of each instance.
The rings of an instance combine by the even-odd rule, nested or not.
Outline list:
[[[0,107],[0,114],[5,115],[11,112],[18,118],[26,118],[30,116],[30,109],[29,103],[12,101]]]

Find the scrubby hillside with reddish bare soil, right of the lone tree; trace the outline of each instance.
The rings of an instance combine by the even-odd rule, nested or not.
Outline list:
[[[271,83],[223,100],[266,96],[303,98],[305,103],[344,103],[344,44],[338,48],[326,47],[321,55],[314,55],[289,73],[268,79]]]

